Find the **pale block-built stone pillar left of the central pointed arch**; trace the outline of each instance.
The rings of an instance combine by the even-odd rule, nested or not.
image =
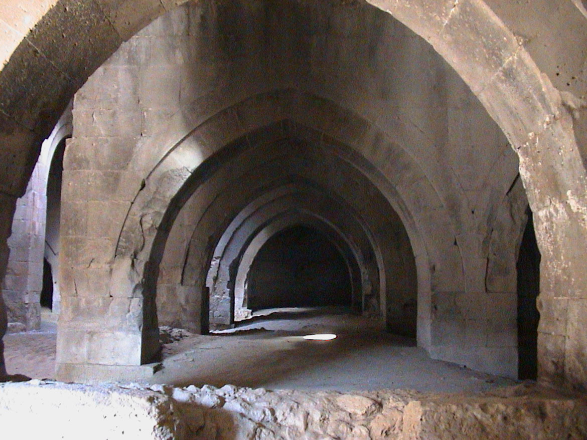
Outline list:
[[[63,158],[56,375],[63,381],[138,379],[153,374],[152,365],[140,365],[158,349],[156,317],[155,324],[146,324],[153,317],[145,312],[150,304],[143,297],[141,262],[115,255],[141,185],[140,174],[126,169],[140,134],[140,113],[103,112],[92,123],[92,112],[76,106],[77,101],[73,117],[80,123]],[[96,140],[106,128],[109,137]],[[97,155],[97,145],[106,154]]]

